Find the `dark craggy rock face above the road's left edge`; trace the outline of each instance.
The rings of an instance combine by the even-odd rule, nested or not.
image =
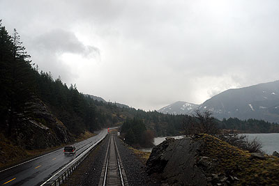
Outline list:
[[[15,137],[18,145],[33,150],[60,146],[74,140],[68,129],[41,100],[34,99],[29,104],[31,117],[18,121],[17,124]]]

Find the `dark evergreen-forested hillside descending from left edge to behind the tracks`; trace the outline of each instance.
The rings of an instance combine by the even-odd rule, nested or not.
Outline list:
[[[10,36],[5,26],[1,25],[0,32],[0,127],[7,137],[17,134],[24,121],[33,120],[47,125],[46,118],[36,114],[38,107],[34,107],[35,100],[42,101],[75,136],[86,130],[93,132],[121,124],[127,117],[134,116],[142,118],[156,135],[179,132],[182,116],[121,108],[112,102],[96,101],[77,91],[76,85],[68,87],[61,79],[53,79],[50,72],[38,72],[38,66],[31,62],[17,31]]]

